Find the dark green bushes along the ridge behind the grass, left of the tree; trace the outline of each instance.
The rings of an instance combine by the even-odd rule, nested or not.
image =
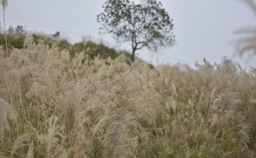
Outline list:
[[[6,32],[6,39],[7,39],[7,48],[8,52],[10,52],[13,48],[21,49],[24,47],[24,40],[26,38],[26,32],[23,30],[22,26],[17,26],[16,29],[13,29],[10,27],[8,31]],[[94,42],[92,40],[82,40],[78,43],[70,43],[68,40],[60,38],[60,33],[56,32],[54,35],[47,35],[43,33],[30,33],[32,34],[34,38],[35,44],[38,44],[39,42],[44,42],[46,44],[49,44],[51,46],[51,40],[52,38],[56,38],[59,41],[58,47],[62,49],[69,50],[71,57],[74,57],[75,52],[86,52],[84,55],[88,55],[91,58],[94,58],[96,56],[99,56],[100,58],[107,59],[108,57],[111,57],[112,59],[115,59],[120,54],[126,54],[127,57],[131,57],[129,52],[125,50],[116,50],[114,48],[106,46],[102,41],[100,42]],[[6,40],[5,40],[5,33],[0,33],[0,45],[4,45],[4,48],[6,49]],[[7,55],[5,55],[7,57]]]

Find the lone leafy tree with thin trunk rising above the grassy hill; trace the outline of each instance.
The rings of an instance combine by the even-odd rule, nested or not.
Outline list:
[[[134,62],[136,50],[147,47],[157,51],[160,47],[175,44],[174,24],[161,2],[141,0],[135,4],[129,0],[107,0],[104,12],[97,15],[102,28],[118,42],[129,42]]]

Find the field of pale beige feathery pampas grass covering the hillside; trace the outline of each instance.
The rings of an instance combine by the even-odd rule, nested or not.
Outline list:
[[[86,52],[85,52],[86,53]],[[0,51],[0,157],[256,157],[256,71]]]

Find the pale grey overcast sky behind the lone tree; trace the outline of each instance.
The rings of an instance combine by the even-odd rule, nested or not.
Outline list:
[[[137,1],[137,0],[136,0]],[[22,25],[27,31],[61,35],[71,42],[82,37],[102,39],[109,46],[131,50],[129,44],[118,44],[111,35],[99,34],[96,16],[103,11],[105,0],[9,0],[6,9],[7,27]],[[137,1],[138,2],[138,1]],[[256,57],[240,58],[236,53],[234,32],[256,26],[256,16],[242,0],[162,0],[163,7],[174,19],[177,44],[150,54],[145,48],[137,56],[153,64],[221,63],[224,56],[243,68],[256,67]],[[1,10],[2,11],[2,10]],[[3,14],[1,14],[2,16]],[[3,18],[1,18],[2,24]]]

